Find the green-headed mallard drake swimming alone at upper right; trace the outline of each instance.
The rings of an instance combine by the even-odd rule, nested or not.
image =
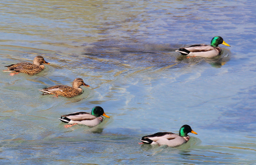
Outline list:
[[[215,57],[221,52],[221,49],[218,46],[219,44],[230,46],[222,37],[216,36],[212,38],[211,46],[204,44],[191,45],[186,46],[185,48],[179,48],[179,50],[176,50],[175,52],[179,52],[185,56]]]

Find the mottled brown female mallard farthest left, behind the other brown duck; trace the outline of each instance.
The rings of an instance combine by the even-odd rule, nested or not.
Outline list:
[[[43,64],[50,63],[46,62],[42,56],[36,56],[33,60],[33,64],[29,62],[20,62],[18,64],[7,65],[5,67],[8,69],[3,70],[3,72],[13,72],[9,74],[10,76],[14,76],[14,74],[18,73],[25,73],[32,76],[44,70]]]

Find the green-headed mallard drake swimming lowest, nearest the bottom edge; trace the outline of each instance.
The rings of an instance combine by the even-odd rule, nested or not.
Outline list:
[[[189,125],[182,125],[179,129],[179,135],[172,132],[158,132],[153,135],[143,136],[140,141],[144,144],[165,144],[170,147],[177,147],[189,141],[188,133],[190,132],[197,135]]]

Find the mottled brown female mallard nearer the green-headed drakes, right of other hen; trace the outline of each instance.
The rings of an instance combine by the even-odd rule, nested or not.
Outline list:
[[[78,96],[82,93],[83,89],[80,88],[81,85],[90,87],[90,85],[87,85],[85,84],[85,82],[83,82],[82,78],[75,78],[75,80],[73,81],[72,87],[69,87],[67,85],[55,85],[53,87],[39,89],[39,91],[43,92],[43,95],[51,94],[51,95],[56,95],[56,97],[60,95],[67,98],[71,98],[71,97]]]

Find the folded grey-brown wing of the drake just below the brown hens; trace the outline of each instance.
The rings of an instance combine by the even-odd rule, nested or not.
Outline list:
[[[62,115],[60,117],[60,119],[65,119],[65,118],[70,119],[72,121],[83,121],[83,120],[93,120],[93,119],[96,119],[97,117],[87,112],[74,112],[74,113]]]

